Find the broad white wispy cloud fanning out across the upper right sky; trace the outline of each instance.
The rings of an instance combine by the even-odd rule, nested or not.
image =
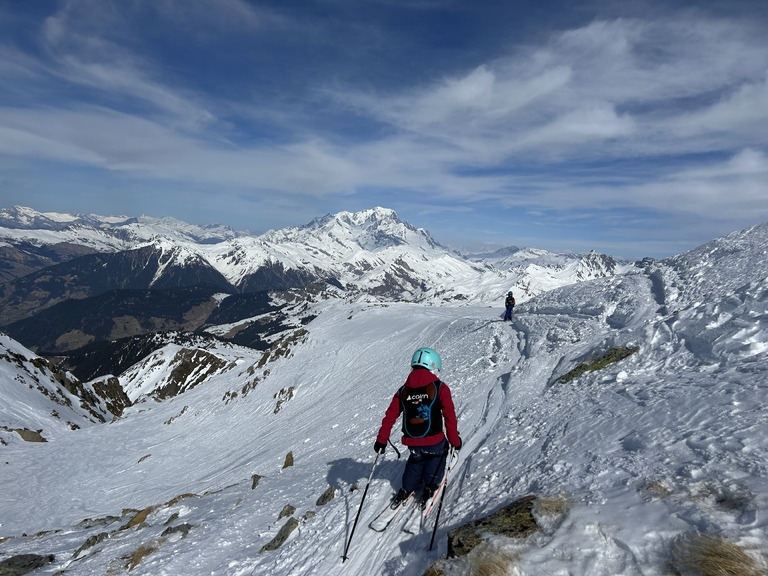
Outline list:
[[[766,122],[765,62],[768,42],[729,22],[616,20],[556,34],[546,46],[411,94],[337,97],[403,132],[469,142],[470,152],[480,138],[528,157],[547,157],[553,145],[573,157],[604,154],[596,141],[647,155],[658,142],[666,154],[675,137],[751,133]],[[696,150],[695,141],[677,146]]]

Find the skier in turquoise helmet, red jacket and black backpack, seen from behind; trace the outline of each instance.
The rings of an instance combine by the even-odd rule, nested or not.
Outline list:
[[[413,353],[411,368],[387,408],[374,444],[376,452],[384,452],[392,426],[403,414],[402,442],[408,446],[410,456],[402,488],[392,498],[393,509],[420,489],[424,506],[443,479],[448,443],[457,450],[461,448],[451,390],[435,374],[442,369],[440,356],[432,348],[419,348]]]

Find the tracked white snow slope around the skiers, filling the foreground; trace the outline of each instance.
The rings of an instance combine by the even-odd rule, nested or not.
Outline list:
[[[46,443],[0,429],[0,559],[55,555],[35,574],[418,576],[445,555],[448,529],[527,494],[567,494],[570,510],[493,540],[515,558],[510,574],[662,576],[689,531],[765,555],[766,246],[764,224],[541,294],[512,323],[495,301],[317,301],[272,361],[230,351],[233,368],[204,384],[109,424],[43,426]],[[443,357],[465,442],[435,550],[427,533],[368,529],[399,487],[389,448],[342,563],[375,433],[419,346]],[[561,380],[622,346],[639,350]],[[288,522],[282,546],[264,549]]]

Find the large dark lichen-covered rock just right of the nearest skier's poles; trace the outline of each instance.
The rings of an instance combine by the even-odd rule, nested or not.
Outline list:
[[[490,516],[473,520],[448,532],[448,557],[468,554],[482,542],[483,534],[526,538],[540,530],[533,516],[536,496],[525,496]]]

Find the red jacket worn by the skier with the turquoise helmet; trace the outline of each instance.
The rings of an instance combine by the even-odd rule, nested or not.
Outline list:
[[[418,389],[426,389],[427,386],[435,381],[439,381],[439,378],[432,372],[426,369],[417,368],[412,370],[408,375],[408,379],[405,381],[405,388],[409,389],[409,392],[418,392]],[[438,389],[437,403],[440,406],[443,422],[445,423],[444,432],[431,434],[422,438],[411,438],[404,434],[401,440],[403,444],[406,446],[433,446],[447,436],[451,446],[458,448],[461,445],[459,431],[456,427],[456,410],[453,407],[451,390],[445,383],[442,383]],[[387,412],[384,414],[384,419],[381,421],[381,428],[379,429],[379,434],[376,436],[377,442],[381,442],[382,444],[387,443],[389,435],[392,432],[392,427],[395,425],[395,422],[397,422],[402,411],[403,405],[400,398],[400,390],[398,390],[392,398],[392,402],[389,403],[389,408],[387,408]]]

